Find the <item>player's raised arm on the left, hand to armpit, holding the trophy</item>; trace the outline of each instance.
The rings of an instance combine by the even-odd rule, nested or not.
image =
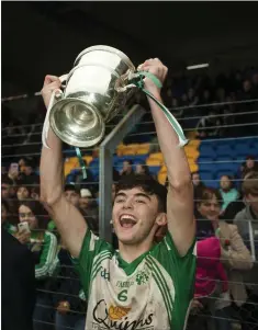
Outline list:
[[[54,76],[46,76],[42,95],[46,107],[52,92],[60,88],[60,80]],[[74,257],[80,253],[87,224],[80,212],[69,202],[63,192],[63,157],[61,141],[49,128],[47,145],[43,146],[41,157],[41,200],[57,225],[57,229]]]

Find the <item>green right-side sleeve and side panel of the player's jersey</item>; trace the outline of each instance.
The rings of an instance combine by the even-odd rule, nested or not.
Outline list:
[[[172,329],[184,329],[194,294],[197,246],[195,240],[181,257],[168,232],[164,240],[154,249],[153,257],[167,271],[175,286],[175,304],[172,308]]]

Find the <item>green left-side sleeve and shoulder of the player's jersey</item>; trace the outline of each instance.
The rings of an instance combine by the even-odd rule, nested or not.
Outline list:
[[[87,230],[79,258],[72,259],[72,262],[79,273],[87,299],[89,297],[90,278],[94,260],[99,255],[110,255],[112,252],[113,248],[110,243],[100,239],[91,230]]]

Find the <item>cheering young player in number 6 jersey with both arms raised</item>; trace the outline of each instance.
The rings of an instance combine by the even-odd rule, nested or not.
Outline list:
[[[161,82],[167,76],[157,58],[146,60],[142,70]],[[59,87],[57,77],[46,76],[42,90],[46,106]],[[160,90],[147,78],[145,89],[161,102]],[[51,149],[42,150],[42,200],[76,258],[88,298],[89,330],[182,330],[193,296],[195,224],[188,160],[159,106],[148,102],[168,169],[167,205],[164,187],[154,180],[136,177],[120,183],[112,212],[119,253],[94,237],[76,207],[67,203],[61,185],[61,143],[53,130],[47,139]],[[156,231],[166,225],[167,236],[154,244]]]

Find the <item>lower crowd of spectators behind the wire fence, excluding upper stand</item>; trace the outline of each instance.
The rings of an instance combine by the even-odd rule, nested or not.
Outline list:
[[[141,174],[149,174],[148,167],[143,163],[133,167],[126,160],[115,178]],[[251,310],[254,303],[249,301],[257,299],[257,287],[245,284],[248,272],[254,271],[254,257],[258,259],[258,247],[251,247],[250,240],[253,236],[258,241],[258,172],[254,159],[242,164],[239,178],[244,180],[240,190],[234,187],[228,175],[222,175],[220,190],[214,190],[200,180],[198,172],[192,173],[199,263],[190,330],[197,327],[210,330],[212,326],[229,330],[231,319],[238,319],[242,329],[249,330],[253,328],[248,322],[257,321],[257,310]],[[65,185],[66,198],[78,207],[98,235],[98,190],[92,190],[90,183],[70,180]],[[23,223],[29,224],[29,230],[20,229],[19,224]],[[31,159],[11,163],[2,174],[2,227],[26,244],[34,257],[37,287],[34,329],[54,329],[54,323],[57,330],[63,327],[82,330],[87,301],[69,253],[51,215],[40,203],[38,175]],[[113,243],[117,248],[115,236]]]

